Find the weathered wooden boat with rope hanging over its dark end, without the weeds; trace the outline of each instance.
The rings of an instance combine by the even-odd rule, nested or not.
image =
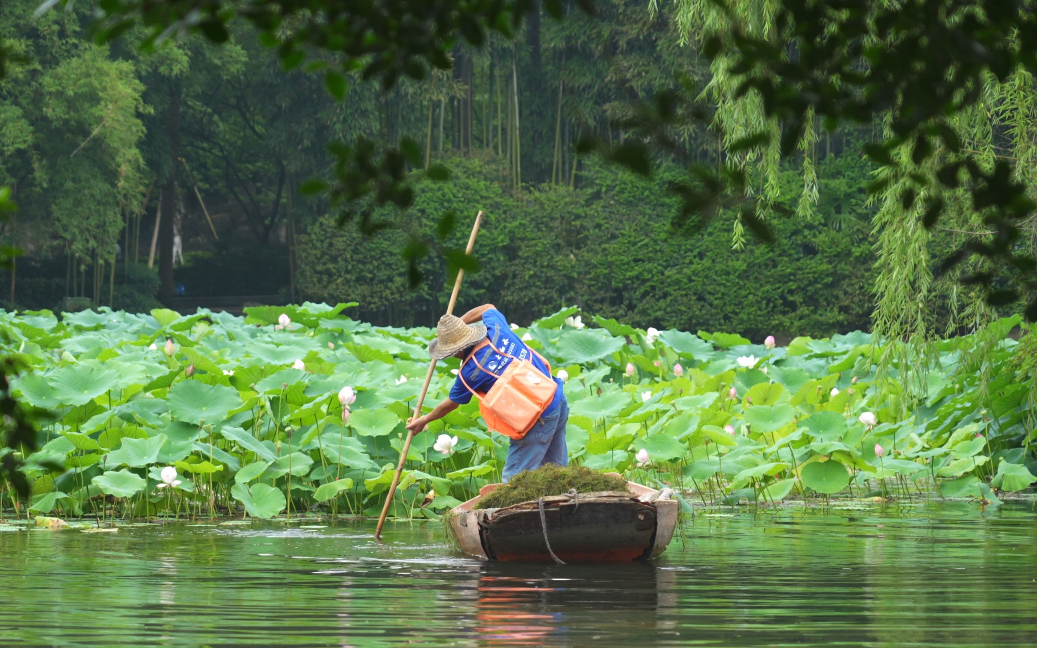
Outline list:
[[[629,492],[543,498],[544,534],[539,500],[478,508],[479,500],[499,485],[483,486],[477,497],[450,511],[448,524],[466,554],[485,560],[552,562],[553,552],[565,563],[626,562],[662,554],[677,526],[677,500],[628,481]]]

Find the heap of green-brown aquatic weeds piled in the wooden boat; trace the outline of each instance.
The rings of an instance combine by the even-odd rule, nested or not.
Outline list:
[[[606,475],[583,466],[562,467],[546,463],[535,471],[525,471],[498,486],[479,502],[479,508],[504,508],[520,502],[539,500],[553,495],[564,495],[576,488],[577,492],[599,490],[626,490],[626,480]]]

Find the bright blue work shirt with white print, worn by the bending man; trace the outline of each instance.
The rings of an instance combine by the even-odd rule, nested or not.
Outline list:
[[[544,375],[551,375],[548,370],[548,366],[543,364],[539,356],[532,354],[528,346],[523,343],[518,335],[508,326],[508,320],[504,318],[501,311],[496,308],[491,308],[482,314],[482,323],[486,325],[486,337],[494,346],[501,349],[505,354],[514,356],[520,360],[526,360],[530,356],[533,356],[532,363],[533,366],[543,372]],[[494,350],[493,346],[486,345],[475,353],[475,357],[465,363],[461,366],[457,377],[454,379],[453,387],[450,388],[450,400],[466,404],[472,400],[472,392],[468,391],[465,384],[460,382],[461,375],[465,376],[465,382],[468,383],[468,387],[471,387],[480,394],[485,394],[489,391],[489,388],[497,383],[497,378],[489,375],[485,371],[479,369],[479,365],[475,364],[478,360],[486,369],[493,371],[497,375],[504,372],[504,369],[511,364],[511,359],[507,356],[502,356]],[[544,416],[551,414],[558,407],[558,403],[562,402],[565,398],[565,394],[562,392],[562,382],[556,377],[552,376],[555,381],[555,397],[551,399],[551,404],[548,408],[543,411]]]

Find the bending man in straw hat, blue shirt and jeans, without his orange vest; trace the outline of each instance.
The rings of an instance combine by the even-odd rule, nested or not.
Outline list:
[[[473,354],[472,349],[483,340],[488,340],[489,343]],[[450,356],[459,358],[461,366],[449,397],[428,414],[408,423],[408,429],[414,433],[423,430],[431,421],[450,414],[458,405],[469,403],[472,391],[479,394],[488,392],[497,383],[497,377],[493,374],[501,375],[513,359],[529,360],[537,370],[551,376],[551,370],[543,360],[526,346],[493,304],[473,308],[460,317],[441,317],[436,339],[428,344],[428,355],[437,360]],[[505,482],[523,471],[531,471],[544,463],[569,463],[568,449],[565,446],[569,405],[565,401],[561,379],[552,379],[556,387],[551,403],[525,436],[511,439],[502,475]]]

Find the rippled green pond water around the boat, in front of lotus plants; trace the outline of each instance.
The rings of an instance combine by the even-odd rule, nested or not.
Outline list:
[[[0,533],[0,645],[1037,643],[1032,502],[700,510],[629,565],[482,563],[436,523],[384,544],[369,520],[302,525]]]

